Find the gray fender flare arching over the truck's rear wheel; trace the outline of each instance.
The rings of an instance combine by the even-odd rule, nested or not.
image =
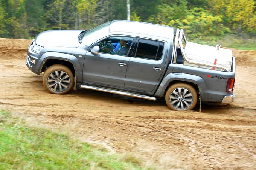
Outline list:
[[[155,92],[155,95],[163,97],[167,86],[172,83],[172,81],[183,81],[196,84],[200,92],[201,101],[208,101],[207,86],[204,79],[200,76],[186,73],[169,73],[166,75]]]

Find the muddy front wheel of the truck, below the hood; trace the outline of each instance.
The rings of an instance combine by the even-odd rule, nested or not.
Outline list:
[[[65,94],[74,83],[72,71],[64,65],[55,64],[46,69],[43,75],[43,85],[53,94]]]

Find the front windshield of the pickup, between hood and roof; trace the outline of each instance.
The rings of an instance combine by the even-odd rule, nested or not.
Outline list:
[[[86,31],[82,36],[82,44],[89,46],[101,37],[104,37],[104,35],[109,33],[110,22],[101,24],[98,27],[94,27],[91,30]]]

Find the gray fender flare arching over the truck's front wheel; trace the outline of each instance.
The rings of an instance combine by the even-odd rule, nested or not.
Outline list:
[[[61,52],[46,52],[46,53],[44,53],[38,61],[38,63],[41,63],[41,64],[37,65],[37,67],[35,68],[35,70],[38,74],[41,73],[44,63],[46,63],[46,61],[49,59],[63,60],[63,61],[67,61],[67,62],[71,63],[75,69],[74,76],[76,77],[76,81],[82,82],[82,69],[81,69],[82,66],[79,63],[78,58],[76,58],[74,55],[65,54],[65,53],[61,53]]]

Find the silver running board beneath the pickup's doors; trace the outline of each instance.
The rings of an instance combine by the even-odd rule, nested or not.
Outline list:
[[[120,95],[125,95],[125,96],[130,96],[130,97],[144,98],[147,100],[157,100],[157,98],[155,98],[155,97],[150,97],[150,96],[135,94],[135,93],[130,93],[130,92],[116,91],[116,90],[111,90],[111,89],[106,89],[106,88],[101,88],[101,87],[80,85],[80,88],[91,89],[91,90],[96,90],[96,91],[104,91],[104,92],[120,94]]]

